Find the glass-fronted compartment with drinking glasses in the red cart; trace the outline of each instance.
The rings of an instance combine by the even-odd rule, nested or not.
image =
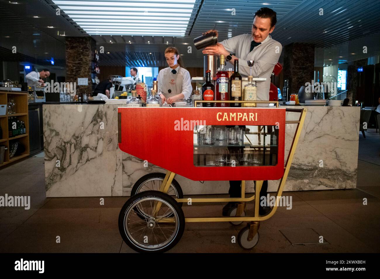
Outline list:
[[[275,166],[278,152],[275,126],[197,126],[193,132],[193,162],[197,167]]]

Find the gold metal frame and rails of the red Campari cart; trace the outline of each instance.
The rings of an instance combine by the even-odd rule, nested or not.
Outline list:
[[[275,104],[276,107],[279,107],[278,101],[195,101],[195,107],[197,103],[203,103],[203,102],[213,102],[213,103],[260,103],[260,104]],[[284,185],[286,183],[288,173],[290,170],[291,162],[293,161],[294,153],[296,151],[296,147],[298,144],[299,137],[301,135],[302,127],[304,125],[307,109],[286,109],[287,112],[299,112],[300,116],[298,121],[285,121],[285,124],[297,124],[297,128],[293,137],[293,142],[291,143],[290,151],[288,154],[287,161],[285,163],[284,167],[284,174],[283,177],[280,180],[279,187],[277,189],[277,197],[280,197],[282,195],[282,191],[284,188]],[[168,171],[166,172],[165,178],[162,181],[160,192],[167,193],[168,189],[170,187],[171,182],[173,181],[173,178],[176,174],[174,172]],[[261,187],[263,185],[263,180],[256,181],[256,187],[255,187],[255,194],[260,193]],[[277,210],[277,203],[275,203],[272,210],[264,215],[259,216],[259,204],[260,204],[260,197],[256,199],[256,195],[253,194],[250,197],[245,197],[245,181],[243,180],[241,182],[241,198],[191,198],[191,202],[239,202],[237,205],[237,211],[236,211],[236,217],[200,217],[200,218],[185,218],[185,222],[249,222],[247,226],[249,227],[249,236],[248,240],[252,240],[253,237],[258,232],[258,229],[260,227],[260,221],[267,220],[273,216],[273,214]],[[175,199],[177,202],[188,202],[188,199]],[[255,201],[255,207],[254,207],[254,216],[244,216],[240,217],[242,212],[245,209],[246,202],[250,202],[254,200]],[[155,205],[154,212],[158,212],[158,210],[161,207],[161,203],[157,202]],[[172,218],[163,218],[159,222],[171,222]]]

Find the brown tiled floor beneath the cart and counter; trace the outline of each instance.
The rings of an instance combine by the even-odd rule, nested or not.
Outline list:
[[[374,129],[366,136],[359,140],[357,189],[285,192],[293,208],[279,207],[261,222],[260,240],[250,251],[232,241],[245,224],[223,222],[187,223],[169,252],[380,252],[380,138]],[[0,208],[0,252],[134,252],[117,225],[126,197],[105,197],[105,205],[99,197],[46,199],[43,162],[36,156],[0,170],[0,195],[31,199],[29,210]],[[222,203],[183,206],[186,217],[220,216],[222,208]],[[252,213],[252,205],[246,211]],[[303,232],[308,235],[300,237]],[[318,244],[290,243],[298,239]]]

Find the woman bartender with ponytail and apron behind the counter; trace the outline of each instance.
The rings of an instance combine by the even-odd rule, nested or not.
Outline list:
[[[169,67],[162,69],[157,77],[157,90],[162,102],[172,104],[185,101],[193,90],[190,73],[184,68],[176,47],[168,47],[165,50],[165,58]]]

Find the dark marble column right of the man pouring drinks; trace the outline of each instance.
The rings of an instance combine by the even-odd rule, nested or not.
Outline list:
[[[292,43],[284,47],[284,79],[289,80],[289,94],[314,78],[314,46]]]

